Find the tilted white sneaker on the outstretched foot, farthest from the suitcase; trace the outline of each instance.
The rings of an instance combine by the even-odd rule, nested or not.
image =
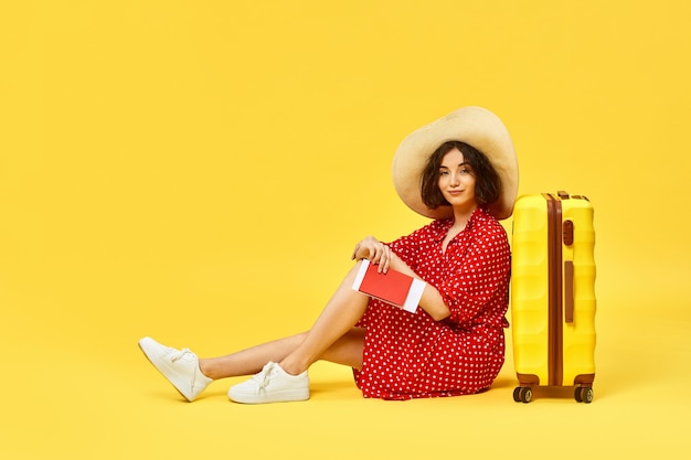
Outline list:
[[[199,359],[189,349],[176,350],[164,346],[151,338],[139,341],[139,347],[151,364],[180,392],[192,402],[213,382],[199,368]]]

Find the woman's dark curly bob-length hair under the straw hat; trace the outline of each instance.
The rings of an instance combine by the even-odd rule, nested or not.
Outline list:
[[[472,169],[476,180],[475,199],[478,205],[487,207],[499,200],[501,195],[501,179],[485,153],[468,143],[451,140],[440,145],[432,153],[427,164],[425,164],[421,184],[423,203],[430,210],[449,204],[439,190],[439,167],[444,156],[454,149],[458,149],[463,153],[464,161]]]

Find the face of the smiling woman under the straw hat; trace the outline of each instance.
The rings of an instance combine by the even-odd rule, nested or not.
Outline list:
[[[454,207],[472,208],[475,201],[475,171],[458,149],[449,150],[439,165],[439,190]]]

